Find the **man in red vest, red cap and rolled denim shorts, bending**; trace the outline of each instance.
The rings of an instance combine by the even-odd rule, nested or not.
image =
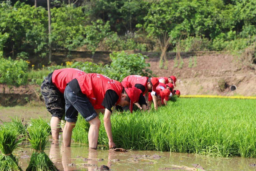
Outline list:
[[[78,112],[89,122],[89,148],[96,149],[99,136],[100,119],[95,109],[105,109],[104,126],[109,139],[109,148],[115,148],[113,142],[110,115],[116,105],[130,106],[137,99],[132,88],[124,88],[118,81],[102,74],[84,74],[71,80],[64,92],[66,100],[66,125],[63,130],[64,146],[70,146],[72,129],[75,127]]]

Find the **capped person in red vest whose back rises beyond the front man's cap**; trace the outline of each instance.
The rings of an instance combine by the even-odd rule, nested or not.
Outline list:
[[[156,91],[156,86],[158,86],[159,81],[156,77],[145,77],[140,75],[129,75],[123,79],[123,81],[128,81],[132,86],[140,89],[143,94],[145,94],[145,100],[148,101],[148,92]]]

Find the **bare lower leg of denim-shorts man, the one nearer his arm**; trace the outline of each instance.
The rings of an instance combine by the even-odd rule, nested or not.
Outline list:
[[[99,129],[100,129],[100,119],[95,117],[89,121],[90,128],[88,133],[89,148],[97,148]],[[65,128],[66,129],[66,128]]]

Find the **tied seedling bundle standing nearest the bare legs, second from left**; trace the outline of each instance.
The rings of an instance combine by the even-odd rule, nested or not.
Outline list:
[[[31,127],[29,130],[29,142],[34,149],[26,171],[56,171],[56,166],[44,152],[48,142],[49,133],[42,127]]]

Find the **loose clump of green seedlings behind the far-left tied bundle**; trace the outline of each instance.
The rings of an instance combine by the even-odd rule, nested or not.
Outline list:
[[[13,130],[16,132],[18,138],[25,137],[25,139],[28,138],[28,132],[27,132],[27,124],[22,123],[23,121],[18,118],[17,116],[15,118],[12,118],[12,122],[4,122],[2,127]]]

